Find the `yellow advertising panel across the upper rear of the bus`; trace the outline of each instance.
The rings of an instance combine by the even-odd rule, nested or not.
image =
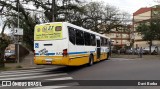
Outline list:
[[[62,39],[62,24],[37,25],[34,29],[34,40]]]

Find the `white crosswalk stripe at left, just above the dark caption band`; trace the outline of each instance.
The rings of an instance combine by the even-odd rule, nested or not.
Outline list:
[[[67,73],[26,76],[26,77],[15,77],[15,78],[2,78],[0,80],[23,80],[23,79],[34,79],[34,78],[43,78],[43,77],[51,77],[51,76],[53,77],[53,76],[61,76],[61,75],[67,75]]]

